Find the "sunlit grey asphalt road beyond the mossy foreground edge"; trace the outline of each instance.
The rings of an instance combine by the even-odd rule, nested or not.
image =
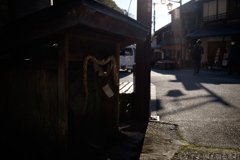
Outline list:
[[[183,139],[240,150],[240,76],[153,69],[151,82],[156,85],[160,120],[178,124]]]

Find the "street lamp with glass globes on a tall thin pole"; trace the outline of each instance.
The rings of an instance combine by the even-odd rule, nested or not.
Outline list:
[[[175,2],[180,3],[180,66],[182,66],[182,0],[180,1],[174,1],[174,0],[168,0],[169,2]],[[162,4],[166,3],[166,0],[161,0]],[[172,3],[167,4],[168,10],[172,10]]]

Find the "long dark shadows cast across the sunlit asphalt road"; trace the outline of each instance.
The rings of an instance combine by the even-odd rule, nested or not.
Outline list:
[[[209,88],[203,86],[202,84],[214,84],[214,85],[240,84],[240,76],[229,77],[226,75],[226,77],[224,77],[223,75],[218,74],[219,72],[211,72],[211,71],[209,71],[209,72],[205,71],[203,73],[200,72],[201,74],[199,76],[194,76],[192,74],[192,72],[189,70],[188,71],[184,71],[184,70],[183,71],[176,71],[176,70],[166,71],[166,70],[152,69],[152,71],[163,74],[163,75],[175,76],[176,80],[169,80],[169,82],[182,83],[184,88],[187,91],[205,90],[208,93],[208,95],[205,95],[205,96],[195,96],[195,97],[190,97],[190,98],[184,98],[183,97],[184,94],[180,90],[178,90],[178,89],[169,90],[165,96],[172,97],[173,98],[172,102],[176,103],[176,107],[178,106],[177,105],[178,103],[184,102],[184,101],[189,101],[189,100],[194,100],[194,99],[199,99],[199,98],[210,99],[209,101],[206,101],[206,102],[190,105],[190,106],[187,106],[184,108],[178,108],[176,110],[169,111],[169,112],[163,112],[160,114],[161,117],[184,112],[184,111],[191,110],[191,109],[196,109],[196,108],[202,107],[202,106],[204,106],[208,103],[212,103],[212,102],[220,103],[223,106],[228,107],[228,108],[239,109],[237,106],[234,106],[234,105],[228,103],[223,98],[218,96],[217,93],[211,91]],[[209,73],[216,73],[216,74],[209,74]]]

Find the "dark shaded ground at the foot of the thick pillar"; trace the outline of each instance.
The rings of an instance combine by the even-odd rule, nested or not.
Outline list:
[[[128,120],[119,124],[121,140],[115,141],[112,145],[102,149],[101,153],[94,160],[127,160],[140,159],[148,121],[141,122]]]

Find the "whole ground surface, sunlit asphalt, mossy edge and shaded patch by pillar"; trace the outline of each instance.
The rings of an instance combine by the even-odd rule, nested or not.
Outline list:
[[[120,71],[120,82],[132,81],[132,73]],[[152,69],[152,118],[123,122],[120,130],[128,139],[102,157],[239,159],[239,92],[240,76],[226,71],[194,76],[190,69]]]

